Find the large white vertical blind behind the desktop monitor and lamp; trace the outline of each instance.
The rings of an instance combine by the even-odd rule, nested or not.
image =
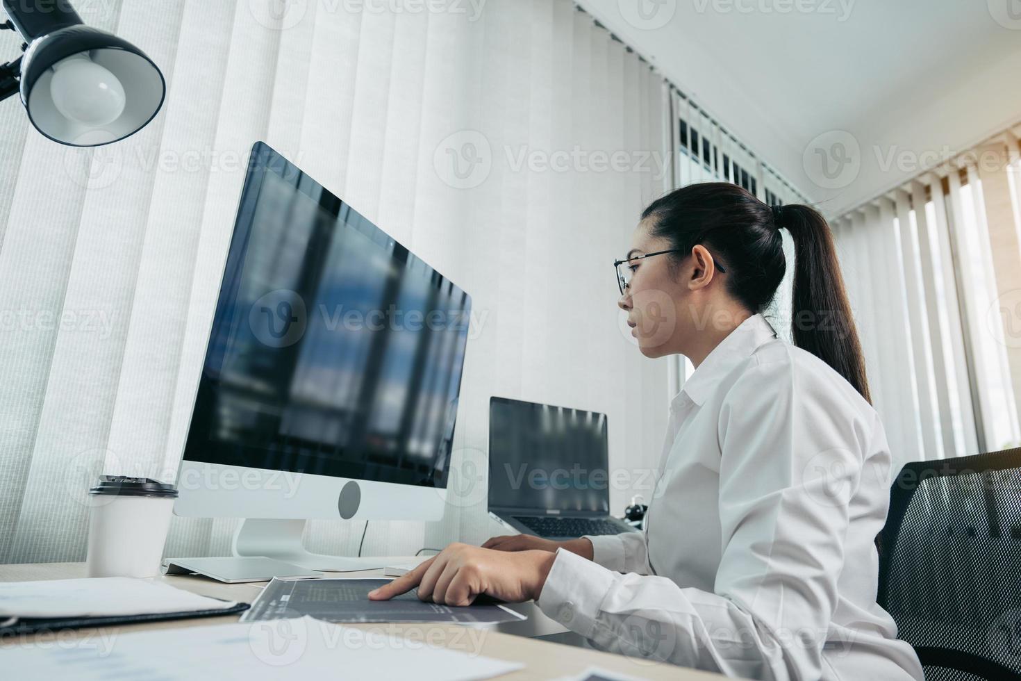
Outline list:
[[[446,516],[371,523],[367,554],[498,530],[491,395],[605,412],[613,508],[645,484],[667,363],[627,334],[611,263],[669,189],[663,80],[570,0],[349,4],[86,3],[163,69],[157,118],[71,149],[0,107],[0,562],[83,560],[100,472],[173,479],[256,140],[474,297]],[[176,518],[166,554],[227,554],[236,524]],[[305,542],[351,554],[362,529]]]

